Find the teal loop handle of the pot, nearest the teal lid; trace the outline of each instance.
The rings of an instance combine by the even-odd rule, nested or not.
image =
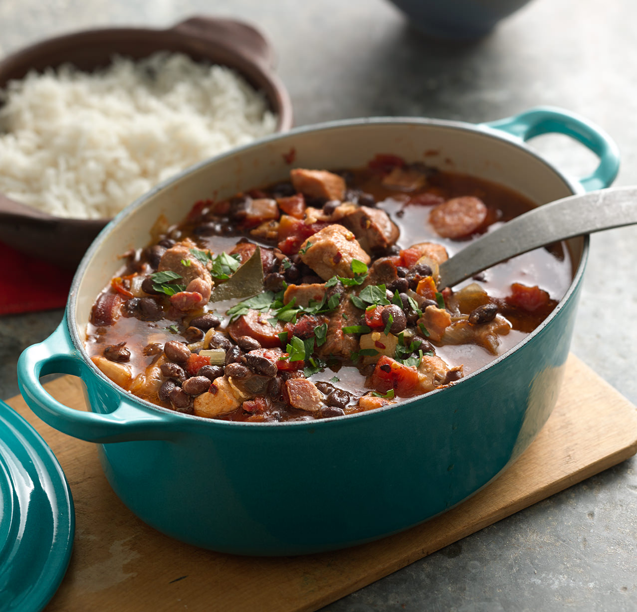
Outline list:
[[[105,414],[74,410],[55,400],[39,378],[72,374],[87,386],[89,396],[108,408]],[[63,433],[87,442],[168,440],[176,435],[169,414],[136,408],[96,376],[69,337],[66,319],[46,340],[25,349],[18,359],[18,386],[27,405],[40,419]]]

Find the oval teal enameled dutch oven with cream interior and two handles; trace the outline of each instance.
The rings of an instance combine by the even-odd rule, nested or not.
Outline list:
[[[557,132],[599,157],[570,179],[525,141]],[[471,125],[417,118],[324,123],[269,137],[160,184],[104,228],[85,254],[66,315],[18,361],[20,391],[43,421],[96,442],[111,487],[142,520],[220,552],[297,555],[382,538],[434,517],[497,477],[528,447],[557,399],[587,257],[569,241],[575,271],[564,298],[524,342],[452,387],[320,421],[243,423],[179,414],[140,400],[97,370],[83,349],[90,308],[120,266],[150,241],[164,214],[225,198],[299,167],[362,166],[376,153],[422,160],[503,184],[543,204],[603,188],[619,167],[615,144],[587,120],[537,108]],[[56,401],[39,379],[80,377],[90,412]]]

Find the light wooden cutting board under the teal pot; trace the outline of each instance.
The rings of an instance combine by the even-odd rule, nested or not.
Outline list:
[[[83,408],[77,380],[61,377],[47,389]],[[238,557],[182,544],[145,525],[111,490],[93,444],[39,421],[20,396],[8,403],[53,449],[75,501],[71,562],[47,612],[316,610],[637,452],[635,407],[570,356],[557,407],[538,438],[468,501],[409,531],[347,550]]]

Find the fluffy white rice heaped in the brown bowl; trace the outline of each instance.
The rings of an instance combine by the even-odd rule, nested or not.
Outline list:
[[[231,69],[186,55],[29,73],[0,92],[0,192],[60,217],[110,218],[176,172],[275,131]]]

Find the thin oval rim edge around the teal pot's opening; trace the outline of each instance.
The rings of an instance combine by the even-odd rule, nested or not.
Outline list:
[[[206,422],[207,427],[211,428],[236,428],[236,427],[244,427],[244,428],[276,428],[280,430],[280,428],[316,428],[316,427],[325,427],[329,426],[329,424],[335,424],[337,422],[342,422],[343,420],[347,420],[347,422],[352,421],[355,422],[354,419],[374,419],[381,418],[386,415],[388,412],[395,412],[396,410],[409,410],[416,403],[426,403],[427,398],[433,398],[434,396],[438,396],[443,393],[450,393],[453,391],[454,387],[457,384],[462,384],[465,380],[474,379],[478,375],[482,375],[483,372],[490,370],[491,368],[499,365],[504,359],[508,358],[508,356],[513,353],[519,351],[524,346],[526,346],[529,342],[532,342],[533,339],[543,331],[548,324],[550,324],[553,319],[559,314],[562,310],[566,302],[571,298],[571,295],[575,292],[576,288],[580,284],[582,280],[583,272],[586,267],[588,253],[589,253],[589,235],[583,235],[581,237],[583,241],[582,245],[582,255],[580,256],[580,261],[578,266],[573,274],[573,278],[571,279],[571,283],[569,287],[562,296],[561,300],[557,303],[552,312],[548,315],[548,317],[538,326],[536,327],[529,335],[520,340],[517,344],[513,345],[508,351],[503,354],[497,356],[496,359],[489,361],[489,363],[483,365],[481,368],[478,368],[474,372],[471,372],[466,377],[462,377],[462,379],[458,380],[454,384],[434,389],[433,391],[429,391],[421,396],[416,396],[413,398],[406,398],[403,401],[400,401],[396,404],[389,404],[382,406],[380,408],[375,408],[374,410],[367,410],[364,412],[356,412],[354,414],[341,415],[338,417],[329,417],[326,419],[313,419],[311,421],[281,421],[281,422],[244,422],[244,421],[224,421],[221,419],[208,419],[206,417],[197,417],[195,415],[187,415],[182,414],[180,412],[175,412],[174,410],[170,410],[169,408],[163,408],[161,406],[157,406],[154,403],[151,403],[147,400],[142,400],[137,396],[128,393],[122,387],[117,386],[112,380],[110,380],[106,375],[104,375],[99,368],[91,361],[88,353],[85,350],[84,342],[82,338],[80,338],[77,332],[77,326],[75,324],[76,319],[76,297],[78,294],[78,286],[80,281],[82,280],[84,274],[87,272],[89,268],[90,260],[94,252],[99,248],[101,242],[106,240],[111,230],[115,229],[115,227],[126,218],[130,212],[135,209],[141,207],[147,200],[155,197],[159,191],[164,190],[169,187],[171,184],[177,183],[178,181],[182,181],[186,179],[190,174],[194,174],[197,171],[203,169],[208,165],[212,165],[214,163],[219,162],[220,160],[227,158],[233,155],[241,155],[244,151],[249,150],[251,148],[262,146],[264,144],[268,144],[274,141],[282,140],[285,138],[294,138],[297,134],[308,134],[311,132],[322,132],[325,130],[334,130],[341,129],[344,127],[363,127],[364,125],[407,125],[409,123],[413,123],[415,125],[433,125],[436,127],[446,127],[455,130],[461,130],[465,132],[471,132],[482,134],[487,137],[492,137],[499,141],[502,141],[503,144],[508,146],[513,146],[518,150],[524,151],[529,156],[535,158],[539,162],[543,163],[543,165],[547,166],[548,169],[552,170],[562,181],[564,184],[571,190],[572,193],[581,193],[583,191],[581,184],[577,183],[575,179],[569,179],[566,175],[564,175],[561,170],[557,169],[555,165],[547,160],[545,157],[541,156],[536,151],[531,150],[529,147],[524,144],[523,141],[520,141],[519,138],[507,134],[506,132],[502,132],[501,130],[494,129],[489,127],[488,124],[476,124],[469,122],[461,122],[456,120],[443,120],[443,119],[433,119],[433,118],[423,118],[423,117],[366,117],[366,118],[355,118],[355,119],[345,119],[345,120],[334,120],[330,122],[322,122],[322,123],[314,123],[311,125],[304,125],[302,127],[297,127],[295,129],[290,130],[289,132],[283,132],[278,134],[272,134],[271,136],[263,137],[257,141],[252,143],[243,145],[241,147],[235,148],[233,150],[227,151],[226,153],[222,153],[220,155],[209,158],[208,160],[204,160],[203,162],[199,162],[189,168],[183,170],[179,174],[162,181],[152,188],[150,191],[142,195],[140,198],[132,202],[129,206],[127,206],[123,211],[119,212],[117,216],[115,216],[109,223],[104,227],[104,229],[97,235],[94,242],[91,244],[87,252],[80,261],[80,265],[78,266],[75,277],[73,277],[73,283],[71,284],[71,290],[69,291],[69,299],[66,305],[64,319],[66,323],[67,330],[71,337],[73,344],[76,349],[82,355],[85,363],[89,365],[92,371],[98,375],[102,380],[108,382],[108,384],[117,391],[118,395],[131,400],[136,403],[138,407],[143,407],[145,409],[150,409],[154,411],[159,411],[160,414],[166,415],[167,417],[174,417],[175,419],[186,419],[186,421],[182,421],[183,424],[187,424],[188,422],[198,423],[198,427],[201,426],[202,422]]]

